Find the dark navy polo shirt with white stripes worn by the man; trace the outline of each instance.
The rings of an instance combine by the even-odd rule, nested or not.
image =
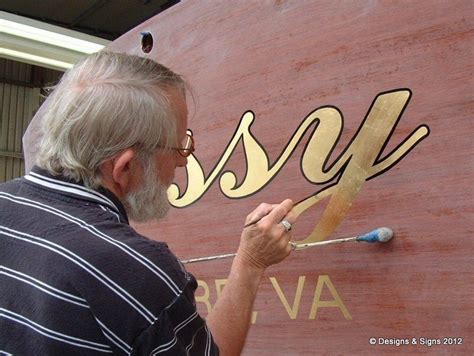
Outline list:
[[[35,167],[0,185],[0,354],[216,355],[195,278],[122,204]]]

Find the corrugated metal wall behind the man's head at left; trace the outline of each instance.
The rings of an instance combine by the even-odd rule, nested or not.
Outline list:
[[[61,74],[0,58],[0,182],[24,174],[23,133],[43,101],[41,88]]]

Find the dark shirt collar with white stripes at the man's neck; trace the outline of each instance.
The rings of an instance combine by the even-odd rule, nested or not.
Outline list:
[[[53,176],[38,166],[34,166],[24,178],[59,194],[105,205],[118,213],[128,224],[128,217],[123,204],[114,193],[104,187],[99,187],[97,190],[86,188],[83,182],[76,182],[61,175]]]

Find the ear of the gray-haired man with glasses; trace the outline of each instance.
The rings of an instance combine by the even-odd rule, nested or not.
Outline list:
[[[131,148],[107,160],[101,167],[104,186],[123,198],[132,188],[140,171],[137,154]]]

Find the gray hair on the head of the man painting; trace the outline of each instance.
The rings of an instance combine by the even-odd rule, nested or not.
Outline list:
[[[101,184],[100,166],[127,148],[146,162],[158,145],[176,144],[170,88],[185,82],[157,62],[99,52],[67,71],[44,105],[37,164],[53,175]]]

